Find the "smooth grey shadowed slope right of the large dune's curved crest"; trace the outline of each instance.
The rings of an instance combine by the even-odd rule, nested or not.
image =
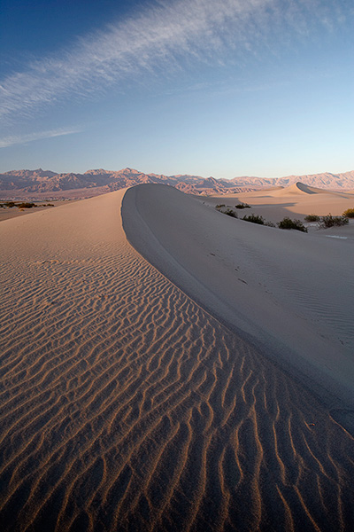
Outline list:
[[[351,240],[235,220],[171,187],[135,187],[123,205],[127,236],[150,262],[270,356],[352,403]]]

